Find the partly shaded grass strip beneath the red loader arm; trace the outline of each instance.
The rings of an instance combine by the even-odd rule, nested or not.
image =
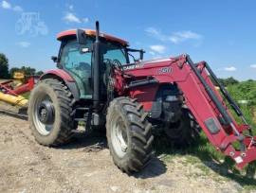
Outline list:
[[[227,181],[232,180],[240,184],[246,190],[256,189],[256,179],[253,177],[256,163],[239,171],[229,157],[225,157],[214,149],[203,132],[192,146],[184,148],[176,148],[162,137],[161,140],[156,139],[155,153],[163,157],[162,160],[167,163],[173,163],[174,158],[182,158],[180,162],[184,167],[188,165],[197,167],[202,171],[200,175],[208,176],[216,182],[220,181],[220,176],[222,176]]]

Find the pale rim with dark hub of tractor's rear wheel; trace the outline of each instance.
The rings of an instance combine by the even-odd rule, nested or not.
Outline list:
[[[51,109],[51,112],[49,111]],[[46,94],[38,96],[34,103],[33,121],[36,130],[42,135],[48,135],[54,125],[55,113],[54,105],[50,97]],[[50,120],[48,119],[51,116]]]

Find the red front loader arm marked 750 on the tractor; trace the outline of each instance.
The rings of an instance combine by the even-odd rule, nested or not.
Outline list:
[[[137,64],[135,68],[130,67],[126,72],[141,78],[140,82],[143,81],[143,78],[151,77],[151,81],[155,79],[155,84],[152,81],[152,85],[145,83],[144,88],[139,89],[138,87],[136,90],[131,88],[131,96],[137,97],[138,94],[144,93],[145,96],[141,98],[148,98],[149,94],[146,94],[147,92],[143,92],[143,90],[146,91],[148,88],[151,95],[154,95],[157,85],[175,82],[183,92],[186,105],[206,133],[210,143],[217,150],[231,157],[238,168],[245,167],[256,159],[256,137],[252,136],[242,111],[229,96],[226,89],[218,82],[205,61],[195,64],[189,55],[181,55],[165,61],[150,61],[148,63],[144,61],[144,63]],[[234,120],[224,98],[215,89],[210,77],[216,81],[223,96],[227,98],[231,107],[245,124],[239,125]],[[146,80],[144,81],[146,82]],[[150,104],[147,101],[141,103],[144,107],[150,109]],[[246,134],[246,131],[248,131],[248,134]],[[240,144],[239,149],[235,149],[232,145],[234,142]]]

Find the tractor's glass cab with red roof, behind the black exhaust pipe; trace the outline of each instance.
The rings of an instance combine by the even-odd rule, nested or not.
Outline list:
[[[104,33],[99,34],[101,39],[100,86],[106,90],[110,63],[129,63],[128,42]],[[62,42],[57,61],[58,67],[64,69],[73,77],[80,90],[80,97],[93,97],[93,71],[95,69],[95,42],[96,31],[90,29],[71,29],[58,34],[57,39]],[[140,50],[137,50],[140,51]],[[104,92],[101,92],[104,95]]]

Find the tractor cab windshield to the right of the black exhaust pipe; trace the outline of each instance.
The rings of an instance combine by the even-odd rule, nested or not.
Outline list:
[[[104,43],[104,45],[105,52],[103,54],[103,60],[118,60],[121,64],[128,63],[124,47],[109,42]]]

